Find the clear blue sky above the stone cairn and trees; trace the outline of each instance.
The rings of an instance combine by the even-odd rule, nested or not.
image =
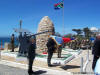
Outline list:
[[[43,16],[49,16],[56,32],[62,33],[62,9],[54,10],[53,5],[61,0],[0,0],[0,36],[10,36],[13,28],[19,27],[37,32]],[[65,33],[73,28],[100,28],[100,0],[64,0]]]

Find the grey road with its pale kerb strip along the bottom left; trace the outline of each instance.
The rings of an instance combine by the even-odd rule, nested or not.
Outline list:
[[[52,70],[42,67],[33,66],[35,75],[71,75],[66,71]],[[6,60],[0,61],[0,75],[28,75],[27,65]]]

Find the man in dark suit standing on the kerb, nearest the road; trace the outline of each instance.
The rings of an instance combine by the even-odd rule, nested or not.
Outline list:
[[[32,65],[33,61],[35,59],[35,49],[36,49],[36,43],[34,38],[31,38],[31,43],[29,45],[29,50],[28,50],[28,61],[29,61],[29,66],[28,66],[28,73],[29,75],[33,74],[34,72],[32,71]]]

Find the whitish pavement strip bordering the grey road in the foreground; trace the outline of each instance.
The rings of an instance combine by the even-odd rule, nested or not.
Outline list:
[[[0,64],[11,66],[11,67],[14,67],[14,68],[21,68],[23,70],[26,69],[26,71],[27,71],[27,67],[28,67],[27,64],[21,64],[21,63],[16,63],[16,62],[12,62],[12,61],[6,61],[6,60],[1,60]],[[43,75],[71,75],[70,72],[59,71],[59,70],[52,70],[52,69],[47,69],[47,68],[42,68],[42,67],[36,67],[36,66],[33,66],[33,70],[37,71],[37,72],[38,71],[44,72]],[[28,75],[26,71],[25,71],[25,75]],[[19,73],[21,73],[21,71],[19,71]]]

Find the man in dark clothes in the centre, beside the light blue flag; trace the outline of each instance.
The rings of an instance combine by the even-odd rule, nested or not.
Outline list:
[[[55,51],[56,47],[55,47],[56,43],[55,41],[52,39],[52,37],[50,37],[48,39],[47,42],[47,48],[48,48],[48,58],[47,58],[47,62],[48,62],[48,66],[51,67],[51,58],[53,56],[53,52]]]

